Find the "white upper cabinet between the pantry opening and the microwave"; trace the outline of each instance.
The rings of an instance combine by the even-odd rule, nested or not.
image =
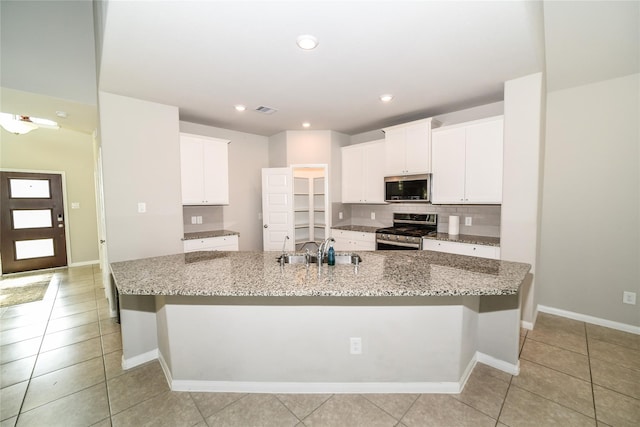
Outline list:
[[[384,140],[341,151],[342,203],[384,203]]]

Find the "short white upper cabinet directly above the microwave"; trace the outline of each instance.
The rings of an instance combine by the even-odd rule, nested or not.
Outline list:
[[[431,129],[439,123],[431,118],[383,129],[385,132],[385,176],[431,172]]]

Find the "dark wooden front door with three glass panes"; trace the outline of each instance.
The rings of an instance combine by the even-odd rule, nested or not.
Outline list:
[[[62,175],[0,172],[2,273],[67,265]]]

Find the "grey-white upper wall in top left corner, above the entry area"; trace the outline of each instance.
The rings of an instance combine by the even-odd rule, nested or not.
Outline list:
[[[2,1],[1,86],[96,105],[93,2]]]

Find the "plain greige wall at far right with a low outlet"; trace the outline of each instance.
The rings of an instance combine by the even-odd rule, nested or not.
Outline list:
[[[640,326],[640,75],[550,92],[539,303]]]

